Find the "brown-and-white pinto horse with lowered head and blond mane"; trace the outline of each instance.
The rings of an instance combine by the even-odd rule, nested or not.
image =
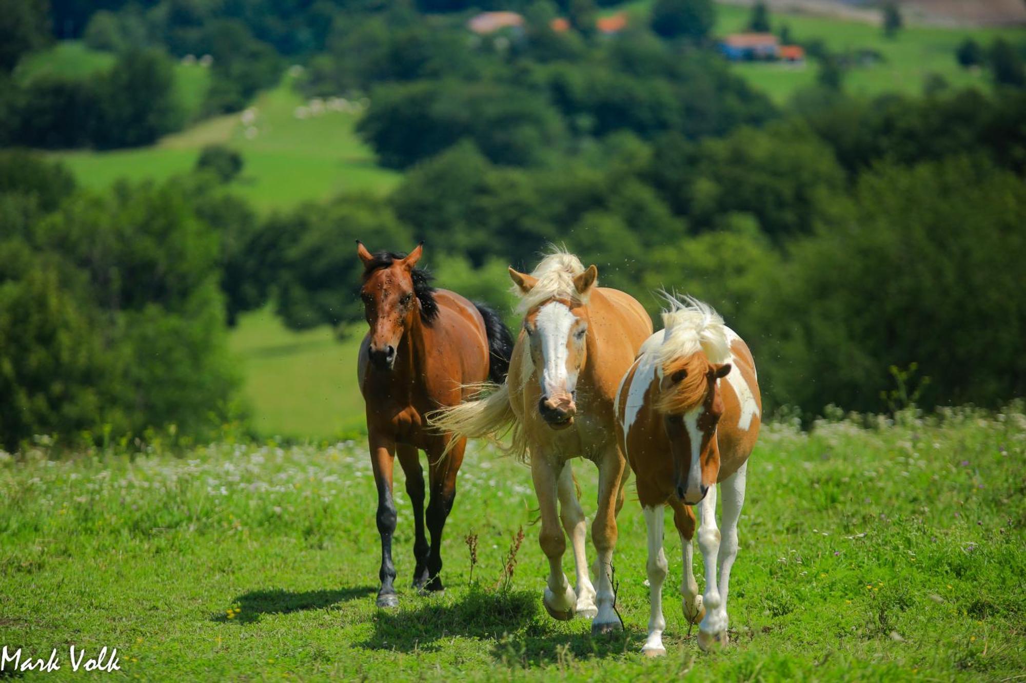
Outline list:
[[[663,509],[667,505],[673,509],[683,546],[680,593],[684,616],[692,624],[701,620],[699,646],[703,650],[726,643],[726,594],[738,555],[738,518],[762,409],[748,346],[705,304],[667,298],[671,310],[663,314],[665,329],[641,347],[617,396],[620,443],[634,471],[648,527],[652,613],[642,651],[653,656],[666,654]],[[717,483],[723,494],[722,538],[716,528]],[[695,505],[701,512],[699,548],[705,558],[705,596],[699,595],[692,568],[695,513],[690,506]]]

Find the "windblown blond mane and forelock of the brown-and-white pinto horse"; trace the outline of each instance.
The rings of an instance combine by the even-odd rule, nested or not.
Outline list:
[[[723,319],[708,304],[692,296],[681,300],[661,293],[669,308],[663,311],[663,343],[654,353],[663,376],[678,370],[687,372],[661,394],[656,408],[665,413],[686,412],[705,399],[709,366],[731,360],[731,343]]]

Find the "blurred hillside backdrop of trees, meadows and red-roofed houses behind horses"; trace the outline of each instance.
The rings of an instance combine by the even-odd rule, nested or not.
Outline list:
[[[1026,393],[1022,0],[0,0],[0,446],[363,429],[354,240],[712,304],[770,412]]]

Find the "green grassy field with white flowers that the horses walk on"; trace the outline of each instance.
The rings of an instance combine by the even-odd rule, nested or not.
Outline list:
[[[706,655],[687,635],[668,529],[669,654],[659,660],[639,653],[638,505],[620,515],[615,559],[624,634],[593,639],[586,620],[558,622],[542,608],[528,472],[489,450],[472,448],[461,473],[443,597],[405,588],[412,521],[397,475],[395,611],[373,606],[376,498],[362,443],[4,454],[0,644],[44,658],[58,648],[58,673],[26,674],[45,680],[73,678],[71,644],[87,658],[117,647],[122,673],[146,680],[1012,680],[1026,669],[1024,435],[1021,405],[871,430],[764,428],[731,581],[734,644]],[[594,468],[576,471],[593,511]],[[564,566],[573,575],[569,558]]]

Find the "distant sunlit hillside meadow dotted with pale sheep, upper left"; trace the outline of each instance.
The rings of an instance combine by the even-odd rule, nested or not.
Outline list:
[[[227,144],[242,154],[245,164],[229,189],[265,212],[341,192],[380,194],[394,187],[399,174],[377,165],[373,153],[354,131],[356,115],[330,112],[301,120],[293,113],[302,104],[285,79],[253,103],[258,132],[251,139],[240,116],[228,115],[169,135],[154,147],[57,156],[83,185],[104,189],[121,177],[162,180],[187,172],[204,145]]]

